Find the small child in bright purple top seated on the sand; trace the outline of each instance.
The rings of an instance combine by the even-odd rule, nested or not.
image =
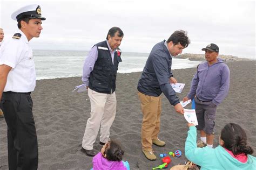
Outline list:
[[[130,170],[129,163],[122,161],[124,151],[113,140],[108,141],[92,159],[93,170]],[[91,170],[92,170],[91,169]]]

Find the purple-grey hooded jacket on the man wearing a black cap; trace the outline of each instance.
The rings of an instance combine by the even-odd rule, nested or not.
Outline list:
[[[208,62],[198,66],[188,98],[193,99],[197,95],[201,101],[212,101],[215,105],[219,105],[224,100],[230,88],[230,69],[223,60],[217,60],[211,66],[208,66]]]

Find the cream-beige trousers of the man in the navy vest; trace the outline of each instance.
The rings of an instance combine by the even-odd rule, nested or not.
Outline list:
[[[109,140],[110,127],[116,116],[117,100],[116,93],[104,94],[88,89],[91,102],[91,117],[87,120],[82,147],[92,150],[99,129],[99,140],[106,143]]]

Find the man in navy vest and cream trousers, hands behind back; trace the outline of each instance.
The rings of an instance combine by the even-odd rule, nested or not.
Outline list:
[[[124,37],[119,27],[112,27],[105,41],[94,45],[84,62],[82,81],[88,89],[91,101],[91,116],[82,141],[82,151],[93,157],[98,152],[93,144],[100,128],[99,144],[109,140],[110,127],[116,116],[116,77],[118,63],[122,62],[118,48]]]

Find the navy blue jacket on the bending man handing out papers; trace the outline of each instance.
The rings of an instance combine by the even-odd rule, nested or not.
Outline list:
[[[155,97],[163,92],[169,102],[176,105],[179,103],[179,98],[170,84],[170,77],[173,76],[172,56],[164,43],[165,40],[152,48],[137,89],[140,93]]]

